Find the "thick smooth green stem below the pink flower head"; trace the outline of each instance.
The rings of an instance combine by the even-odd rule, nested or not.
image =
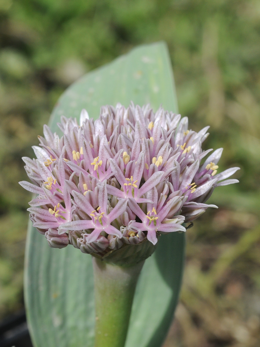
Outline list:
[[[120,266],[92,257],[95,283],[95,347],[124,347],[136,283],[144,261]]]

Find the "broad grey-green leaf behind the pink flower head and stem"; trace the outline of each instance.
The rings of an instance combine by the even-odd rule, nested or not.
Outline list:
[[[137,47],[91,73],[63,93],[50,126],[60,116],[79,119],[81,109],[96,119],[102,105],[162,104],[177,112],[167,47]],[[184,234],[162,236],[138,281],[125,347],[159,347],[170,326],[181,286]],[[53,249],[29,228],[25,261],[25,301],[35,347],[94,346],[94,281],[91,256],[68,246]]]

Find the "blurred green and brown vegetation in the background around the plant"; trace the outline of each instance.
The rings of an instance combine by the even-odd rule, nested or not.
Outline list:
[[[204,148],[224,147],[219,187],[187,232],[180,304],[164,347],[260,345],[260,2],[0,0],[0,318],[23,307],[30,194],[21,156],[63,90],[138,44],[165,40],[179,109]]]

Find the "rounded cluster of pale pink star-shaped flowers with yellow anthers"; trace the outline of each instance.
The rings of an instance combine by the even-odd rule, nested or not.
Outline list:
[[[149,105],[104,106],[97,120],[86,110],[76,119],[61,117],[59,138],[44,126],[36,160],[24,157],[36,193],[28,211],[51,247],[68,244],[84,253],[106,254],[161,234],[185,231],[208,207],[217,186],[239,168],[217,173],[222,148],[202,151],[205,127],[188,129],[188,118]]]

